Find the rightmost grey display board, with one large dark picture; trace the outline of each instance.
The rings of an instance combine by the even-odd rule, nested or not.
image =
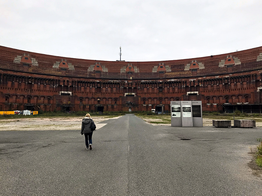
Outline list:
[[[193,127],[203,127],[202,101],[192,101]]]

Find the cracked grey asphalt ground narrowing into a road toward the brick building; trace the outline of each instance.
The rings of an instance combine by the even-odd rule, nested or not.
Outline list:
[[[93,150],[80,130],[0,132],[0,195],[262,195],[248,167],[260,127],[101,123]]]

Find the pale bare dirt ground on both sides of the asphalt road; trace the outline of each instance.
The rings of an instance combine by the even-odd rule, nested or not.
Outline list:
[[[92,117],[96,123],[97,129],[106,125],[106,123],[100,123],[108,119],[119,118],[109,117]],[[162,119],[142,118],[147,123],[152,121],[162,122]],[[97,124],[100,123],[100,124]],[[150,123],[155,126],[171,126],[171,124],[156,124]],[[234,122],[231,121],[233,125]],[[20,118],[20,119],[2,119],[0,120],[0,131],[33,131],[33,130],[81,130],[82,117],[76,118]],[[213,126],[212,119],[203,118],[203,126]],[[257,127],[262,127],[262,122],[256,122]]]

